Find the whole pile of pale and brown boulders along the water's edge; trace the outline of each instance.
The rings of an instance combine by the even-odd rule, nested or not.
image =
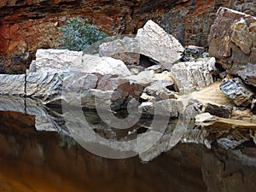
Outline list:
[[[134,37],[100,44],[95,55],[38,49],[26,74],[0,75],[0,94],[112,111],[130,106],[148,115],[178,118],[188,102],[199,104],[191,100],[191,93],[223,79],[220,90],[233,106],[208,99],[201,112],[196,111],[232,118],[236,106],[255,113],[255,23],[253,16],[218,9],[208,38],[209,54],[193,45],[184,48],[153,20]]]

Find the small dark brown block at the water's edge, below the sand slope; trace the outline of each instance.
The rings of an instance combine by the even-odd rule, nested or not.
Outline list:
[[[207,103],[205,113],[210,113],[212,115],[216,115],[218,117],[223,117],[223,118],[231,118],[232,108],[224,105],[218,106],[212,103]]]

